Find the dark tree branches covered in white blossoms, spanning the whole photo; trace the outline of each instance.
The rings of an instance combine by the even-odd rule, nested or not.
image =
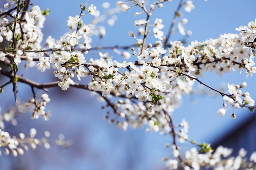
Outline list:
[[[121,11],[126,12],[130,8],[137,8],[139,12],[136,12],[135,16],[142,15],[144,18],[134,21],[134,25],[139,27],[138,36],[135,31],[129,32],[130,37],[135,40],[135,45],[99,48],[92,47],[91,43],[97,35],[97,38],[103,38],[106,30],[103,26],[99,26],[101,15],[97,7],[93,4],[87,5],[89,2],[87,0],[84,5],[80,5],[79,15],[68,18],[68,33],[63,33],[58,40],[49,36],[46,39],[46,45],[41,45],[43,40],[41,29],[49,10],[41,11],[39,6],[30,7],[29,2],[29,0],[18,0],[13,1],[12,5],[7,3],[4,5],[6,9],[0,14],[0,42],[5,39],[9,43],[0,50],[0,61],[3,65],[0,67],[0,73],[9,79],[0,85],[0,92],[4,92],[5,86],[12,84],[14,98],[18,102],[18,83],[29,85],[31,99],[26,102],[26,107],[34,108],[32,118],[37,119],[43,116],[48,120],[49,113],[45,111],[45,107],[51,102],[50,96],[42,94],[38,99],[35,89],[42,89],[45,92],[48,92],[50,87],[60,87],[63,91],[70,87],[90,90],[101,96],[101,99],[106,102],[106,107],[110,107],[112,112],[106,113],[105,118],[111,123],[115,122],[117,127],[126,130],[128,125],[139,128],[146,124],[146,131],[159,131],[161,134],[171,135],[174,159],[165,159],[166,166],[170,169],[177,169],[179,162],[185,170],[226,165],[229,160],[226,158],[231,154],[230,150],[220,147],[213,152],[209,144],[197,144],[189,140],[188,123],[182,120],[179,126],[175,126],[172,113],[180,105],[182,96],[193,92],[192,87],[195,81],[221,94],[224,104],[223,108],[217,111],[219,116],[224,116],[230,108],[248,107],[250,110],[255,108],[254,100],[249,93],[241,91],[247,85],[246,83],[228,84],[229,93],[225,93],[200,81],[200,77],[208,70],[220,76],[231,71],[242,73],[244,70],[246,77],[256,73],[254,66],[256,20],[249,22],[247,26],[236,28],[237,34],[227,33],[220,35],[217,39],[208,39],[204,42],[193,41],[184,46],[181,41],[169,41],[169,39],[176,19],[182,17],[180,12],[182,8],[186,12],[194,9],[191,0],[180,0],[168,33],[162,31],[164,28],[162,19],[156,18],[153,22],[150,20],[154,13],[164,7],[169,0],[159,0],[149,5],[143,0],[130,0],[132,5],[118,1],[116,6]],[[15,7],[11,8],[11,6]],[[84,23],[83,18],[88,15],[93,15],[94,19]],[[177,24],[182,35],[190,34],[189,31],[185,33],[183,24],[186,22],[186,18],[182,18]],[[151,32],[153,32],[152,36]],[[142,35],[141,38],[140,35]],[[120,62],[116,60],[116,56],[103,52],[108,49],[112,49],[119,60],[120,56],[125,60]],[[89,58],[92,50],[101,51],[97,57]],[[54,70],[52,76],[58,78],[58,81],[36,83],[23,77],[18,74],[21,63],[25,63],[25,68],[36,67],[38,74],[52,69]],[[77,82],[74,77],[78,79]],[[87,80],[89,80],[86,84],[83,84],[84,77],[88,77]],[[226,103],[230,105],[227,109],[225,109]],[[235,117],[233,112],[232,118]],[[14,156],[17,155],[15,152],[22,153],[17,148],[18,145],[25,142],[36,143],[33,138],[34,129],[31,130],[34,135],[30,135],[29,138],[25,138],[24,135],[19,139],[10,138],[4,131],[1,133],[4,134],[1,135],[1,147],[5,150],[9,147]],[[46,145],[45,147],[48,148],[46,139],[36,141],[37,144]],[[186,151],[184,156],[180,155],[178,142],[186,141],[199,146],[200,150],[192,148]],[[253,153],[250,157],[252,162],[250,164],[240,161],[232,166],[252,168],[256,162],[255,155]],[[241,150],[237,159],[241,160],[244,156],[245,151]]]

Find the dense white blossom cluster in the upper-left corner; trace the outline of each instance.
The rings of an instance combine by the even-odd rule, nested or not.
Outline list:
[[[7,10],[8,9],[5,9],[5,11]],[[13,54],[10,53],[8,55],[11,55],[13,57],[14,62],[17,65],[21,62],[21,58],[31,62],[33,60],[31,54],[33,54],[34,52],[24,53],[23,51],[29,49],[41,49],[40,44],[43,40],[43,33],[41,29],[43,28],[43,24],[45,22],[45,16],[41,13],[40,7],[34,6],[29,12],[24,12],[22,14],[14,11],[11,14],[11,17],[23,22],[15,22],[8,19],[8,17],[3,17],[0,24],[0,42],[3,41],[3,38],[7,41],[14,41],[14,36],[16,41],[15,48],[17,49],[17,52]],[[13,48],[14,46],[9,46],[9,49]],[[1,51],[0,61],[4,61],[6,55],[6,53]]]

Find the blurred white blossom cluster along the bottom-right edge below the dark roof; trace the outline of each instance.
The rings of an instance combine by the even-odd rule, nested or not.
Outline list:
[[[220,170],[227,169],[240,169],[242,167],[247,167],[248,169],[253,169],[256,163],[256,152],[252,153],[250,156],[251,164],[247,164],[245,155],[247,151],[241,148],[239,150],[238,156],[231,157],[232,149],[219,146],[214,153],[199,153],[196,148],[191,148],[186,150],[185,158],[186,163],[182,163],[180,166],[184,170],[200,170],[201,168],[213,168]],[[168,159],[166,161],[166,166],[170,170],[178,169],[179,163],[177,159]]]

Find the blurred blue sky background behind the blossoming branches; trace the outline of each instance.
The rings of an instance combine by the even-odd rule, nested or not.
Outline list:
[[[41,10],[49,8],[49,16],[46,16],[43,28],[44,41],[52,35],[55,39],[59,39],[61,35],[67,33],[68,17],[79,15],[80,4],[84,4],[85,0],[32,0],[34,5],[38,5]],[[105,0],[90,1],[88,5],[94,4],[101,14],[106,12],[101,4]],[[148,0],[146,2],[153,2]],[[5,2],[0,2],[4,4]],[[188,23],[184,25],[186,30],[191,30],[190,37],[184,37],[176,32],[171,36],[172,41],[183,40],[186,43],[191,41],[205,41],[209,38],[218,38],[224,33],[238,33],[236,27],[247,25],[248,22],[254,21],[256,18],[254,0],[196,0],[193,2],[195,9],[187,13],[182,9],[183,17],[188,19]],[[156,9],[153,12],[153,18],[162,18],[165,25],[163,31],[166,33],[173,18],[173,13],[177,8],[178,2],[164,3],[162,9]],[[115,8],[115,1],[110,2],[110,9]],[[108,26],[106,22],[99,25],[106,27],[106,37],[99,40],[97,37],[93,39],[92,47],[96,46],[128,46],[135,41],[128,35],[128,31],[137,31],[134,21],[142,19],[144,15],[135,17],[134,13],[138,8],[132,7],[126,13],[117,13],[117,20],[114,26]],[[139,11],[138,11],[139,12]],[[92,20],[90,15],[83,17],[83,23],[89,23]],[[153,21],[153,19],[152,19]],[[178,19],[177,21],[180,21]],[[177,30],[177,27],[175,27]],[[156,39],[152,39],[155,42]],[[117,54],[112,51],[102,50],[103,53],[109,52],[110,56],[115,58]],[[98,58],[99,51],[92,51],[86,56],[89,59]],[[52,74],[53,70],[46,70],[40,73],[35,68],[28,70],[19,70],[19,74],[30,78],[38,83],[56,81]],[[250,96],[256,99],[255,78],[245,78],[245,72],[242,74],[231,73],[224,74],[222,77],[216,76],[216,73],[204,73],[204,77],[200,80],[213,88],[223,86],[222,82],[235,83],[240,85],[244,81],[247,87],[243,92],[250,92]],[[86,79],[86,78],[85,78]],[[86,80],[82,79],[81,83]],[[7,78],[0,75],[0,84],[8,81]],[[195,83],[195,89],[200,88]],[[70,88],[62,91],[61,88],[50,88],[49,97],[51,102],[47,103],[46,111],[51,111],[50,120],[45,122],[43,118],[31,120],[31,113],[25,113],[17,118],[18,125],[12,126],[6,124],[5,130],[11,135],[20,132],[29,134],[29,129],[36,128],[38,135],[43,136],[44,131],[51,132],[51,139],[56,139],[59,133],[65,135],[66,140],[72,141],[72,146],[63,148],[60,146],[51,146],[49,150],[38,147],[35,150],[29,148],[23,156],[13,157],[12,155],[2,154],[0,158],[0,169],[10,170],[166,170],[163,157],[171,156],[171,148],[165,148],[166,143],[171,143],[169,136],[159,135],[159,133],[145,133],[145,128],[127,131],[117,129],[115,124],[109,124],[108,120],[104,120],[108,109],[102,110],[100,106],[105,103],[99,102],[97,96],[92,96],[88,91]],[[226,90],[227,92],[227,90]],[[36,90],[36,94],[40,96],[43,91]],[[21,101],[31,98],[31,88],[22,83],[18,83],[18,97]],[[189,138],[197,142],[209,142],[212,144],[221,143],[225,136],[234,132],[247,120],[253,120],[255,116],[247,109],[235,110],[236,119],[231,118],[232,110],[227,111],[224,117],[217,115],[217,110],[222,107],[222,98],[220,95],[210,97],[209,95],[198,96],[196,94],[184,96],[182,105],[173,113],[175,124],[179,124],[182,119],[189,122]],[[11,105],[14,105],[14,96],[12,86],[4,88],[4,93],[0,94],[0,113],[7,111]],[[250,140],[250,139],[246,139]],[[189,149],[192,146],[188,143],[181,144],[183,149]],[[236,146],[238,147],[238,146]],[[184,150],[183,150],[184,151]],[[249,151],[250,153],[252,150]],[[3,152],[2,152],[3,153]],[[237,153],[235,153],[237,154]]]

